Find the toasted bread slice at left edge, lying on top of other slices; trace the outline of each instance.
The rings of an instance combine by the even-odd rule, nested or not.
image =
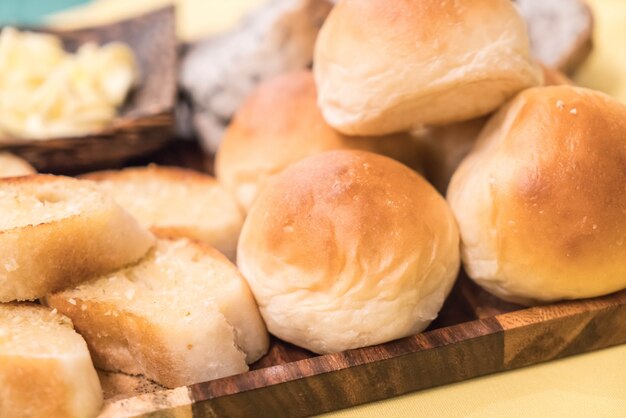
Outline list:
[[[33,300],[143,257],[154,242],[96,184],[0,180],[0,302]]]

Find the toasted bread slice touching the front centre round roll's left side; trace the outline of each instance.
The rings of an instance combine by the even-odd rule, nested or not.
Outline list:
[[[239,271],[186,238],[159,239],[139,264],[46,303],[72,318],[97,367],[170,388],[245,372],[268,348]]]

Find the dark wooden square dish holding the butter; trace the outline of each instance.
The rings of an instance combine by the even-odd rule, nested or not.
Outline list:
[[[85,42],[124,42],[135,54],[141,80],[115,119],[100,132],[48,140],[2,139],[0,150],[20,155],[42,172],[76,174],[121,166],[130,158],[162,148],[172,138],[177,88],[172,7],[106,26],[37,31],[59,36],[69,51]]]

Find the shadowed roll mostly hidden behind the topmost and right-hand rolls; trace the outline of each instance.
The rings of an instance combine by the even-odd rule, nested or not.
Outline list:
[[[558,70],[541,66],[544,85],[573,84]],[[489,117],[481,117],[424,130],[417,136],[422,148],[426,178],[445,194],[452,175],[470,152]]]

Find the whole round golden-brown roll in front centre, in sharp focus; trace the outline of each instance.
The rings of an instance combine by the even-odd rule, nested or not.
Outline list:
[[[419,174],[364,151],[308,157],[252,206],[237,263],[277,337],[316,353],[416,334],[459,270],[459,233]]]

